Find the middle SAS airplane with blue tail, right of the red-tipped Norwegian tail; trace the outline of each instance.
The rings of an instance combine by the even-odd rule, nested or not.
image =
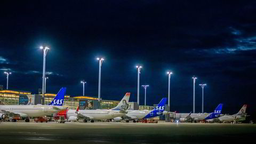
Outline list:
[[[128,113],[123,117],[115,117],[114,121],[119,122],[122,120],[125,120],[126,123],[129,123],[129,121],[133,120],[133,123],[135,123],[138,119],[146,119],[146,118],[152,118],[156,116],[165,115],[168,113],[168,111],[164,111],[164,105],[166,103],[166,98],[163,98],[157,105],[157,107],[154,110],[128,110]]]

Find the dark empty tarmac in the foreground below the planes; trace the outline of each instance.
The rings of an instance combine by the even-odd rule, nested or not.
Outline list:
[[[3,122],[1,143],[255,143],[256,124]]]

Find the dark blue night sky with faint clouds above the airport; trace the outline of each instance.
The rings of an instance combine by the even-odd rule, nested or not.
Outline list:
[[[9,89],[38,93],[42,87],[43,51],[46,93],[67,87],[67,94],[98,96],[97,57],[102,65],[102,99],[120,100],[131,92],[137,101],[140,84],[150,85],[147,103],[167,97],[171,77],[171,110],[196,112],[224,103],[234,114],[248,104],[255,113],[256,74],[255,1],[1,1],[0,84],[4,71],[13,74]],[[140,87],[140,104],[144,90]]]

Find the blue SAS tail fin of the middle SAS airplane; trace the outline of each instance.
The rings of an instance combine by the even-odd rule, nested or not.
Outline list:
[[[143,117],[143,119],[146,118],[151,118],[151,117],[156,117],[156,116],[160,116],[163,114],[164,109],[165,109],[165,103],[166,103],[167,98],[163,98],[157,105],[157,107],[150,111],[150,113],[148,113],[145,117]]]

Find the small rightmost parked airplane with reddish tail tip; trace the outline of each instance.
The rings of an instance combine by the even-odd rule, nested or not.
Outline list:
[[[244,105],[237,114],[223,115],[218,117],[220,122],[242,122],[245,121],[247,114],[245,113],[247,105]]]

